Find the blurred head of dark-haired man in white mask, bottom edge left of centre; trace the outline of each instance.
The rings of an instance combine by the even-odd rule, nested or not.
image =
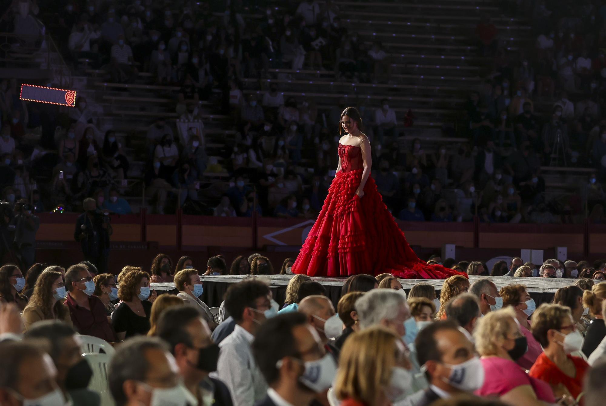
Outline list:
[[[181,382],[175,357],[158,338],[135,337],[118,347],[107,376],[116,406],[198,404]]]

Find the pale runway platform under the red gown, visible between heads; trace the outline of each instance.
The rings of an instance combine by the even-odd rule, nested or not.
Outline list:
[[[276,301],[282,305],[286,292],[288,281],[293,275],[261,275],[259,278],[264,279],[270,284],[273,296]],[[243,275],[236,276],[201,276],[202,284],[204,284],[204,293],[200,299],[209,307],[221,305],[223,295],[230,284],[237,283],[244,279]],[[483,276],[470,276],[470,282],[473,283],[476,279],[484,278]],[[537,306],[543,302],[551,302],[554,293],[561,287],[573,285],[576,279],[557,279],[557,278],[502,278],[490,277],[497,288],[501,288],[510,284],[523,284],[527,286],[528,293],[534,299]],[[341,287],[346,278],[311,278],[313,281],[318,281],[324,285],[326,295],[331,299],[333,304],[336,304],[341,298]],[[402,287],[407,291],[420,282],[426,282],[436,290],[442,289],[444,279],[399,279]],[[157,283],[151,284],[153,290],[162,293],[165,291],[175,290],[173,283]]]

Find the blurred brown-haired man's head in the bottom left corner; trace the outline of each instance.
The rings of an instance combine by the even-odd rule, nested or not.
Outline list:
[[[0,347],[0,404],[64,406],[53,360],[30,341],[3,342]]]

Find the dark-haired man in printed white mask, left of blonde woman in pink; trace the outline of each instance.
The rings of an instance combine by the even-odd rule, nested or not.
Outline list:
[[[443,320],[428,325],[419,331],[415,347],[430,384],[416,406],[473,393],[484,384],[484,367],[456,323]]]

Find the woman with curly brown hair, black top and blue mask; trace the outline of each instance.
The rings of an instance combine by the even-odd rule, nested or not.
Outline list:
[[[147,334],[150,329],[151,302],[147,300],[150,297],[150,284],[147,278],[147,272],[141,268],[120,275],[118,298],[121,303],[112,316],[112,327],[119,341]]]

